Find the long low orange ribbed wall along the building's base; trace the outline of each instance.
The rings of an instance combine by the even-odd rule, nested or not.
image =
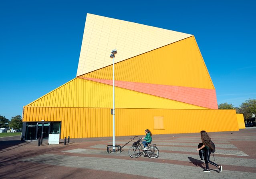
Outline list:
[[[113,132],[110,111],[111,108],[24,107],[23,121],[61,121],[62,139],[109,137]],[[238,130],[235,110],[116,108],[115,112],[116,136],[144,135],[145,129],[153,134]],[[154,116],[163,116],[163,130],[154,130]]]

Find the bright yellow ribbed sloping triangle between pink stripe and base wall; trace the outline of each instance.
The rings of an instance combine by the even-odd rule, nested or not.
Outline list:
[[[197,105],[182,103],[123,88],[115,88],[115,95],[115,107],[117,108],[206,109]],[[112,86],[77,78],[27,106],[110,108],[113,105],[112,96]],[[56,99],[62,99],[61,103]],[[36,114],[38,113],[35,113],[35,115]],[[38,116],[36,116],[36,118],[38,118]]]

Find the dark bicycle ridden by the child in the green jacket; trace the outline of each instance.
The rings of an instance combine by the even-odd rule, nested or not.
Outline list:
[[[139,138],[139,142],[136,145],[132,145],[131,148],[129,148],[129,155],[132,158],[137,158],[139,157],[142,153],[144,156],[148,156],[149,158],[156,158],[159,155],[159,150],[158,148],[155,146],[155,144],[149,145],[147,146],[147,150],[143,150],[143,147],[141,146],[142,141],[141,138]],[[142,150],[143,152],[141,152],[140,150]]]

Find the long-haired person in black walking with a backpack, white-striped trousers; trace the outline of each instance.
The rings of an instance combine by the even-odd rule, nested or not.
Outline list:
[[[201,140],[204,145],[196,150],[199,151],[201,149],[204,149],[204,162],[206,164],[206,169],[204,169],[203,171],[210,172],[210,169],[209,169],[209,163],[210,163],[218,167],[219,171],[222,172],[222,165],[217,165],[216,163],[210,161],[210,155],[212,153],[211,149],[213,149],[212,143],[211,143],[211,137],[206,133],[206,131],[201,131],[200,133],[201,133]]]

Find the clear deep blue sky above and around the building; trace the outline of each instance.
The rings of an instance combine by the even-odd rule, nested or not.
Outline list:
[[[253,0],[0,1],[0,115],[76,77],[86,14],[193,34],[218,103],[256,99]]]

